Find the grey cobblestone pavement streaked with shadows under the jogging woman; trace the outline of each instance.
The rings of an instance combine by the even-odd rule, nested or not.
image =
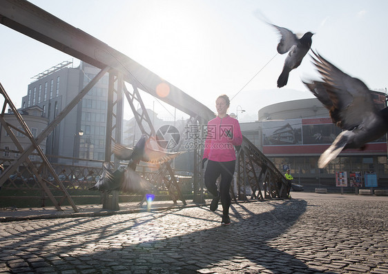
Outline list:
[[[220,207],[2,222],[0,273],[388,273],[388,197]]]

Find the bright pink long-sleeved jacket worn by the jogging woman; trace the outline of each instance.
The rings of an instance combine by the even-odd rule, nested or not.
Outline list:
[[[204,147],[204,157],[215,162],[235,160],[233,146],[242,144],[242,134],[238,121],[229,115],[208,121]]]

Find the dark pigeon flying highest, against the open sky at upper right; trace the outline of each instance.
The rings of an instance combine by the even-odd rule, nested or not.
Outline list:
[[[281,55],[286,52],[289,52],[286,57],[286,60],[284,61],[282,73],[278,78],[278,88],[282,88],[283,86],[286,86],[287,81],[289,81],[289,72],[294,68],[298,68],[300,63],[302,63],[304,55],[309,52],[311,48],[311,37],[313,36],[313,33],[306,32],[304,33],[302,38],[298,39],[298,37],[293,34],[291,30],[273,25],[272,23],[269,24],[277,28],[280,32],[280,35],[282,35],[282,38],[278,43],[278,52]]]

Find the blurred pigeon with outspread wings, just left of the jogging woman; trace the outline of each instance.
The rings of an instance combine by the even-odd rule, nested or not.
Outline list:
[[[167,153],[162,150],[155,150],[151,148],[148,140],[149,138],[147,135],[142,135],[139,141],[137,141],[135,148],[127,148],[120,144],[115,144],[113,146],[113,153],[115,153],[119,159],[132,160],[133,162],[130,164],[130,168],[133,170],[136,169],[136,165],[139,164],[140,161],[151,164],[163,164],[181,154],[181,152]]]

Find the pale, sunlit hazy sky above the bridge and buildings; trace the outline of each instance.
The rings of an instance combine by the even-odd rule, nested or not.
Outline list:
[[[314,32],[311,48],[369,88],[387,87],[385,0],[31,2],[123,52],[212,110],[218,95],[234,97],[229,112],[238,108],[240,121],[257,120],[258,110],[269,104],[313,97],[301,77],[318,76],[307,56],[291,71],[287,86],[276,88],[286,56],[277,55],[278,32],[261,21],[260,14],[295,33]],[[18,108],[31,77],[72,60],[6,26],[0,25],[0,35],[0,82]],[[173,108],[147,95],[143,99],[160,118],[174,118]],[[177,118],[182,116],[177,112]]]

